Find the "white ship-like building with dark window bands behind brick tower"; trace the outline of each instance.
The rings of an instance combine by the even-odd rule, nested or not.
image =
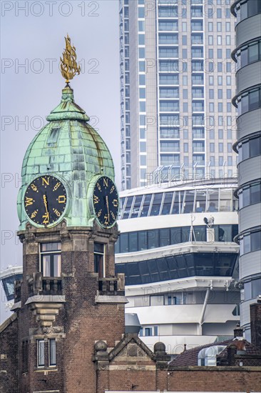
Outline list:
[[[176,354],[230,337],[239,319],[235,179],[158,183],[121,193],[116,272],[145,344]]]

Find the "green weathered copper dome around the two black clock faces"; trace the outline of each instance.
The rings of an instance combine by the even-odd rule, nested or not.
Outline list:
[[[98,175],[114,180],[110,151],[93,127],[89,117],[73,101],[73,90],[63,89],[61,103],[46,119],[48,124],[34,137],[24,156],[17,207],[19,230],[29,221],[24,211],[24,196],[31,181],[39,176],[55,176],[67,192],[63,215],[68,227],[89,227],[93,212],[88,208],[91,185]],[[87,197],[88,194],[88,197]]]

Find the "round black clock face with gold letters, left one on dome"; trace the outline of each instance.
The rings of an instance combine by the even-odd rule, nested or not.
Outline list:
[[[40,176],[29,184],[24,196],[24,209],[31,221],[50,225],[58,221],[66,209],[67,195],[61,180]]]

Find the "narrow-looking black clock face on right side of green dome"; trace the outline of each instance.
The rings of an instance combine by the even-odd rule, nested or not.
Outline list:
[[[118,192],[113,181],[101,176],[93,189],[93,208],[103,228],[112,227],[118,216]]]

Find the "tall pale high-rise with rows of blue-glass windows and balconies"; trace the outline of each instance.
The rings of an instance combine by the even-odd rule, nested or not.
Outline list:
[[[122,189],[236,174],[234,25],[230,0],[120,1]]]

